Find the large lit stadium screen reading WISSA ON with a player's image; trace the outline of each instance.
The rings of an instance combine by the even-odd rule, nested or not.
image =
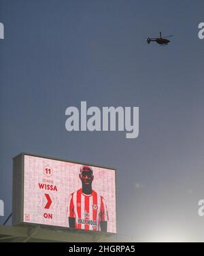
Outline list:
[[[116,233],[114,169],[35,155],[21,157],[22,223]]]

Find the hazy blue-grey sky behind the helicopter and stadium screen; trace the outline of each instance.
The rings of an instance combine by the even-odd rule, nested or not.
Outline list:
[[[204,241],[203,14],[203,0],[0,0],[6,215],[12,157],[23,151],[116,167],[120,234]],[[145,42],[159,31],[174,35],[169,46]],[[139,106],[139,137],[66,131],[65,110],[80,101]]]

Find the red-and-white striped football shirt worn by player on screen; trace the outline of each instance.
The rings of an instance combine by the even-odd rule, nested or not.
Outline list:
[[[96,191],[90,195],[82,189],[69,196],[68,215],[75,218],[76,229],[100,230],[100,222],[108,221],[107,206],[104,198]]]

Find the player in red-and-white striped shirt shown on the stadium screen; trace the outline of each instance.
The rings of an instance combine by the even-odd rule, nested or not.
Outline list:
[[[107,205],[103,196],[92,189],[94,175],[92,167],[80,167],[82,188],[71,193],[68,203],[69,227],[107,231]]]

